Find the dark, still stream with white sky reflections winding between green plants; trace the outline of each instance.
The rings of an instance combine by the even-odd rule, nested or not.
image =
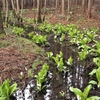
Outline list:
[[[77,87],[83,90],[89,82],[89,69],[86,67],[87,62],[79,61],[77,58],[76,49],[71,47],[68,42],[63,45],[49,40],[50,47],[45,48],[46,51],[53,52],[54,55],[62,51],[64,59],[67,60],[70,56],[74,59],[73,65],[69,68],[69,72],[58,73],[56,66],[50,64],[50,70],[48,72],[48,81],[46,83],[46,89],[36,95],[35,86],[36,81],[29,82],[24,91],[17,91],[15,96],[17,100],[77,100],[75,95],[70,92],[69,87]],[[60,92],[65,92],[65,97],[62,98]],[[91,94],[94,94],[94,92]],[[100,92],[98,92],[100,95]]]

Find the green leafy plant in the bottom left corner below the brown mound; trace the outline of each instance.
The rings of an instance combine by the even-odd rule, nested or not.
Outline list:
[[[10,85],[10,80],[6,79],[3,84],[0,85],[0,100],[10,100],[10,96],[17,89],[17,83]]]

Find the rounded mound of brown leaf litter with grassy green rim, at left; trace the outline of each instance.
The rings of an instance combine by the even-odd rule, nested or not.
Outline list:
[[[28,39],[16,35],[1,36],[0,83],[9,78],[11,83],[17,82],[21,89],[25,88],[31,77],[40,70],[43,53],[43,49]]]

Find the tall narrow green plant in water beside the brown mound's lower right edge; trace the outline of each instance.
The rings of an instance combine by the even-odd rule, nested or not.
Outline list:
[[[36,80],[37,80],[36,90],[38,92],[43,90],[43,88],[45,87],[45,85],[43,85],[43,83],[47,81],[47,77],[46,76],[47,76],[48,69],[49,69],[49,66],[45,63],[42,66],[42,69],[40,70],[38,75],[35,75]]]

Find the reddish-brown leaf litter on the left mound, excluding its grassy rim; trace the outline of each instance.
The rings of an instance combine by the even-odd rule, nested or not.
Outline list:
[[[13,42],[15,37],[16,36],[13,35],[5,36],[0,38],[0,42],[8,39]],[[32,69],[33,61],[36,60],[36,58],[37,54],[32,52],[22,52],[17,46],[0,48],[0,83],[9,78],[11,83],[17,82],[18,86],[23,89],[28,81],[32,79],[31,77],[28,77],[28,70]],[[38,72],[40,68],[41,66],[38,66],[36,72]],[[21,75],[21,73],[23,74]]]

